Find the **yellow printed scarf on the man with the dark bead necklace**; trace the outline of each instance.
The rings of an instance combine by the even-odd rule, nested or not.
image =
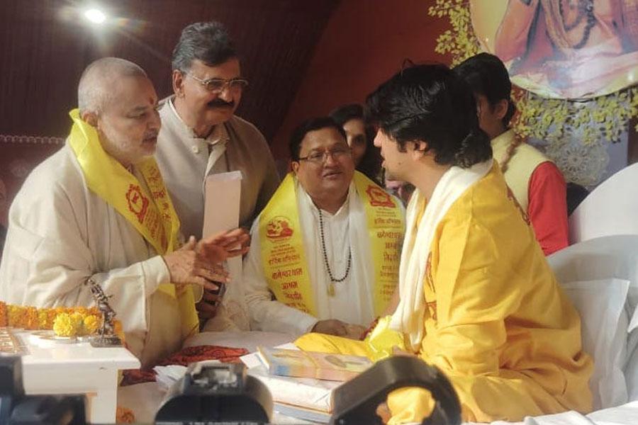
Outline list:
[[[353,179],[366,212],[374,268],[374,313],[379,315],[398,283],[405,220],[396,198],[358,171]],[[259,215],[262,263],[277,300],[317,317],[298,214],[296,181],[288,174]]]

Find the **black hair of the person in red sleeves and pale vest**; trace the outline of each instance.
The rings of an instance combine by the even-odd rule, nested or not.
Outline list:
[[[475,94],[482,94],[490,103],[496,105],[498,101],[508,101],[508,112],[503,117],[503,125],[510,125],[510,120],[516,112],[512,101],[512,82],[505,64],[495,55],[479,53],[464,60],[453,69],[454,73],[463,79]]]

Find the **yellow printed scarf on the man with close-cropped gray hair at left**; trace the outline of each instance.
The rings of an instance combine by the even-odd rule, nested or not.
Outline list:
[[[170,254],[177,249],[179,218],[155,159],[150,157],[136,165],[150,191],[147,193],[133,174],[104,151],[96,129],[79,117],[79,111],[74,109],[69,115],[73,120],[69,145],[89,189],[123,215],[157,254]],[[178,294],[174,285],[164,283],[159,285],[159,290],[177,300],[182,338],[196,333],[198,318],[191,287]]]

